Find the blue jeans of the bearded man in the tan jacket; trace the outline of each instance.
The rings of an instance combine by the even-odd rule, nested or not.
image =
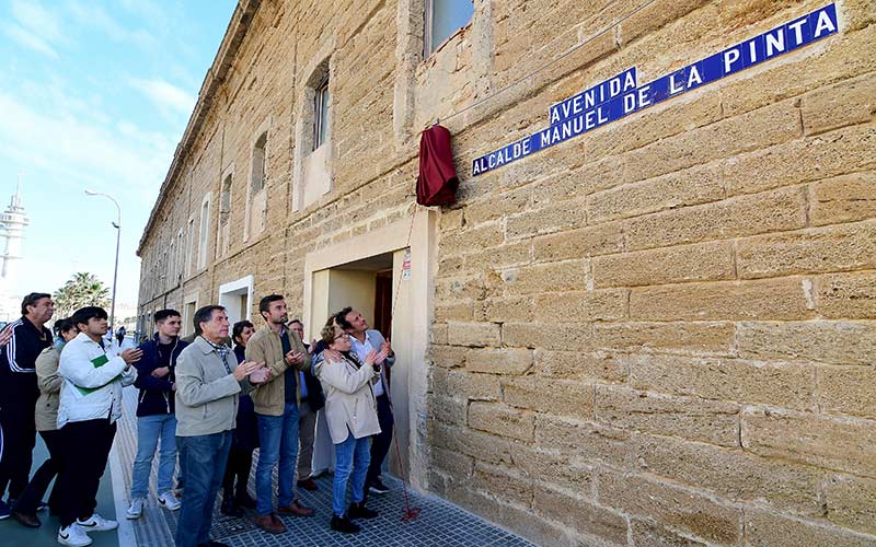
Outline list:
[[[274,488],[272,474],[279,463],[279,507],[295,501],[292,484],[298,462],[298,405],[287,403],[283,416],[258,417],[258,465],[255,467],[255,510],[260,515],[274,512]]]

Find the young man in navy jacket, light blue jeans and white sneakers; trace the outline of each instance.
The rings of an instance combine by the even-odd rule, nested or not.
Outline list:
[[[130,489],[130,507],[126,516],[139,519],[149,493],[149,475],[152,458],[161,439],[158,464],[159,507],[176,511],[180,501],[173,494],[173,472],[176,468],[176,417],[174,416],[174,388],[176,358],[187,346],[180,340],[182,327],[180,312],[160,310],[155,312],[158,331],[151,340],[140,345],[142,358],[135,363],[140,389],[137,404],[137,457],[134,459],[134,477]]]

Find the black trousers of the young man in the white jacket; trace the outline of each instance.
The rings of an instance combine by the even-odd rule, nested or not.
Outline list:
[[[97,488],[106,469],[116,424],[108,418],[74,421],[61,428],[65,451],[60,480],[58,520],[69,526],[77,519],[85,520],[97,507]]]

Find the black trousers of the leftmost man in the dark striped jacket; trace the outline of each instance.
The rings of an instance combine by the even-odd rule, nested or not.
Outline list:
[[[3,428],[3,457],[0,458],[0,498],[9,487],[9,497],[16,499],[27,487],[31,475],[36,423],[34,412],[39,389],[36,374],[5,371],[0,399],[0,427]]]

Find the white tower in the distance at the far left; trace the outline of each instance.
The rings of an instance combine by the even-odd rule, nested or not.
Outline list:
[[[24,229],[27,226],[21,177],[9,207],[0,214],[0,321],[13,321],[21,315],[21,294],[14,294],[15,280],[24,258]]]

